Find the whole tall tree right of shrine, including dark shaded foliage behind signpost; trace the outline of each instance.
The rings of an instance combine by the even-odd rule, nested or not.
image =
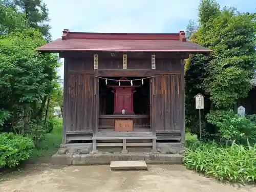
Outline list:
[[[255,14],[220,10],[215,0],[201,0],[199,27],[191,40],[213,52],[190,55],[186,62],[186,119],[190,119],[186,126],[197,126],[197,114],[191,110],[195,93],[205,95],[206,126],[210,110],[232,109],[237,99],[247,95],[255,69],[255,31]]]

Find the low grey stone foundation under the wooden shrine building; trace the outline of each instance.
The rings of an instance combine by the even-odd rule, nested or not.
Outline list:
[[[53,164],[62,165],[99,165],[111,161],[145,161],[146,163],[182,163],[184,147],[181,143],[157,143],[157,151],[150,148],[104,147],[101,151],[92,152],[92,143],[73,143],[61,145],[52,156]]]

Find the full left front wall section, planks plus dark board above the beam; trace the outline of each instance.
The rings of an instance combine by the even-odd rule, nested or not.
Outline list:
[[[89,59],[65,58],[65,132],[93,133],[96,126],[97,79]]]

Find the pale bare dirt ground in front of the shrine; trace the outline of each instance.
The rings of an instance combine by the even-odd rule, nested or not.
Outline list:
[[[1,192],[223,192],[256,188],[224,185],[182,165],[150,165],[148,171],[111,172],[109,165],[37,167],[26,176],[0,184]]]

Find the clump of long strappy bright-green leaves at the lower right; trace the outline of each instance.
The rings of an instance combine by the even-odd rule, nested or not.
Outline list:
[[[195,142],[186,148],[185,166],[220,181],[251,183],[256,181],[256,144],[232,143],[222,147],[215,142]]]

